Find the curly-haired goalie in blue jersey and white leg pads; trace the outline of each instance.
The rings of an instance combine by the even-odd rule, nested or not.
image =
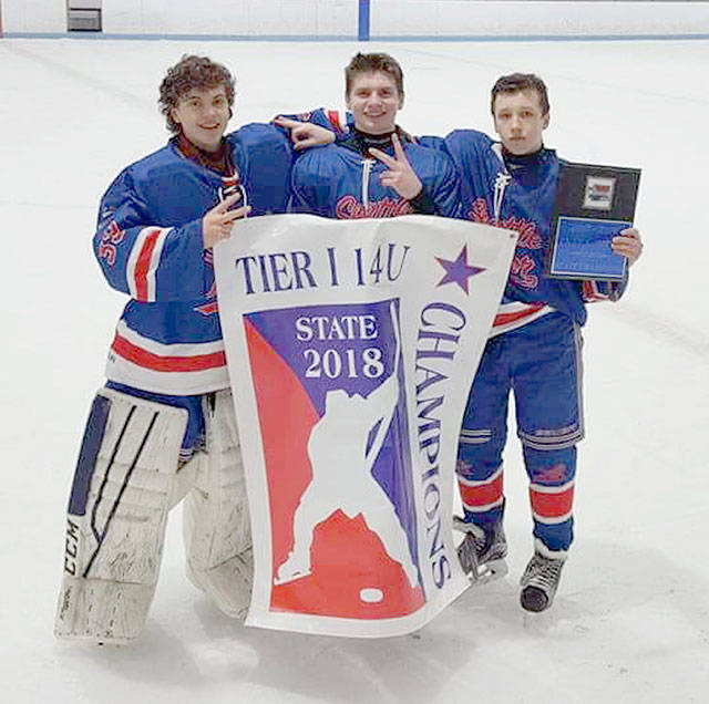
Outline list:
[[[185,495],[189,579],[228,615],[248,603],[249,518],[212,246],[247,215],[286,209],[291,147],[268,125],[224,137],[233,104],[227,69],[184,56],[160,89],[173,138],[101,200],[94,251],[130,301],[71,490],[60,638],[140,633],[167,513]]]

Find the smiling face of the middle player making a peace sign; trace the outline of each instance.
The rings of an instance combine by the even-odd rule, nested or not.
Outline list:
[[[393,132],[397,113],[403,105],[393,76],[383,71],[358,73],[346,97],[357,130],[368,134]]]

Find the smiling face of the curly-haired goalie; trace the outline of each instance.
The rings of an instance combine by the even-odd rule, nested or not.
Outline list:
[[[192,89],[179,96],[169,115],[195,146],[216,152],[232,116],[226,89]]]

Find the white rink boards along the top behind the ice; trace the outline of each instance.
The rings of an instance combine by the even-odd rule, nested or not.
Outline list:
[[[357,0],[97,0],[107,34],[342,37]],[[66,30],[66,0],[0,0],[6,34]],[[709,33],[709,2],[371,0],[371,37]]]

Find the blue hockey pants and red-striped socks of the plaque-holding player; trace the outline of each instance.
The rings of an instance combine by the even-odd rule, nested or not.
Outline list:
[[[513,392],[535,543],[554,552],[571,546],[576,443],[584,435],[580,344],[578,325],[562,313],[487,341],[458,449],[465,521],[489,528],[503,519],[502,452]]]

